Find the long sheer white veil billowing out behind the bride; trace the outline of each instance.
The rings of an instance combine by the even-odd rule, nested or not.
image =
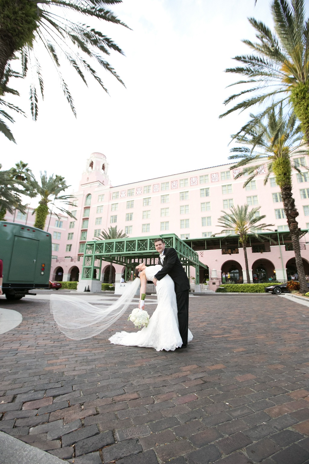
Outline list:
[[[123,295],[109,306],[93,306],[74,296],[50,295],[50,312],[61,332],[73,340],[93,337],[112,325],[126,311],[140,280],[135,279]]]

